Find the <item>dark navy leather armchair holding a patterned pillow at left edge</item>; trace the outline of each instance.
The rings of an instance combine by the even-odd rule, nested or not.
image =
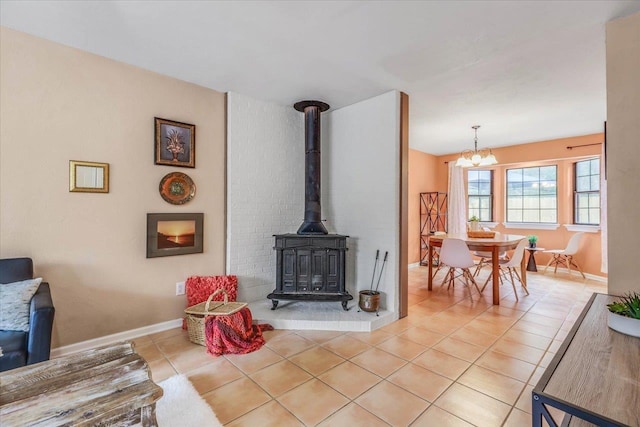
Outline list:
[[[31,258],[0,259],[0,286],[27,279],[33,279]],[[49,284],[42,282],[31,298],[29,332],[0,330],[0,372],[49,360],[54,314]]]

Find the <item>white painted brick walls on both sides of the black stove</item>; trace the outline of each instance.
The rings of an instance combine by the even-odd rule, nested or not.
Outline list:
[[[227,272],[238,276],[239,300],[258,301],[275,288],[273,234],[295,233],[304,217],[304,116],[235,93],[227,108]],[[330,233],[350,236],[347,290],[357,304],[376,249],[380,261],[389,251],[380,290],[397,311],[399,94],[321,121],[322,218]]]

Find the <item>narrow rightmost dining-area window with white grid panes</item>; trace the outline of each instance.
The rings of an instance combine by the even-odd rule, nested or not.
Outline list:
[[[600,225],[600,159],[576,162],[573,223]]]

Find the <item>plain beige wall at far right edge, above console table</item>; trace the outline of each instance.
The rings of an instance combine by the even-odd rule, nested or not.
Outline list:
[[[609,293],[640,291],[640,13],[607,23]]]

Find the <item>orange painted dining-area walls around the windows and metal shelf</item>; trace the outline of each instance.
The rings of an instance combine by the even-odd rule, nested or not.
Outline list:
[[[549,141],[532,142],[528,144],[512,145],[509,147],[502,147],[493,149],[493,153],[498,159],[498,164],[483,169],[491,169],[494,171],[494,222],[498,225],[495,227],[496,231],[510,234],[522,234],[530,235],[535,234],[538,236],[538,247],[546,249],[562,249],[566,246],[569,238],[574,232],[568,231],[563,224],[571,224],[573,222],[573,163],[577,160],[599,156],[601,154],[602,146],[599,143],[604,141],[604,134],[597,133],[592,135],[577,136],[571,138],[561,138]],[[584,145],[584,144],[598,144],[594,146],[578,147],[572,150],[567,149],[567,146]],[[424,153],[422,153],[424,154]],[[434,179],[434,185],[430,185],[428,191],[447,191],[447,163],[448,161],[455,161],[459,153],[444,155],[435,157],[435,176],[430,175],[429,180]],[[426,154],[426,156],[430,156]],[[430,156],[429,162],[432,161],[434,156]],[[426,162],[426,158],[423,159],[417,155],[410,156],[409,159],[409,190],[412,190],[412,178],[415,179],[427,179],[420,177],[412,170],[414,163],[411,159],[416,159],[415,164],[420,164],[418,160]],[[429,163],[431,164],[431,163]],[[505,175],[506,170],[509,168],[527,167],[527,166],[540,166],[540,165],[558,165],[558,223],[561,224],[557,230],[533,230],[533,229],[513,229],[505,228],[502,224],[506,220],[505,214]],[[422,184],[424,185],[424,184]],[[418,184],[413,184],[413,187],[418,187]],[[410,197],[413,197],[413,193],[409,193]],[[417,196],[416,196],[417,197]],[[412,209],[410,205],[410,209]],[[418,207],[414,208],[414,212],[410,212],[409,221],[412,219],[417,221],[415,229],[419,230],[419,214]],[[415,215],[412,216],[412,215]],[[409,233],[413,233],[414,228],[409,225]],[[416,231],[416,239],[418,238],[419,231]],[[409,236],[410,239],[413,235]],[[607,274],[600,272],[601,265],[601,240],[600,232],[597,233],[585,233],[585,237],[582,240],[580,251],[575,256],[575,260],[580,265],[585,273],[594,274],[597,276],[607,277]],[[419,250],[419,249],[418,249]],[[411,246],[411,240],[409,245],[410,262],[411,256],[415,250]],[[536,261],[538,267],[544,267],[548,262],[550,255],[544,253],[536,254]],[[414,261],[415,262],[415,261]]]

